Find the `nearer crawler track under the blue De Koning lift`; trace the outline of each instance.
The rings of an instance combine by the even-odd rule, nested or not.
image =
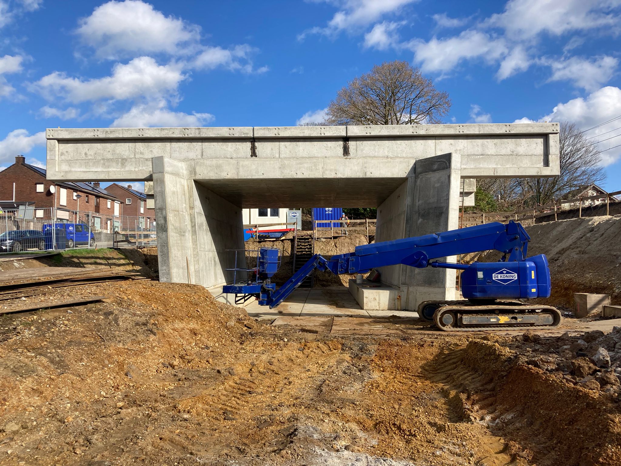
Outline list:
[[[485,306],[447,304],[435,311],[433,322],[438,329],[451,332],[489,330],[554,329],[561,324],[561,312],[540,304],[489,304]]]

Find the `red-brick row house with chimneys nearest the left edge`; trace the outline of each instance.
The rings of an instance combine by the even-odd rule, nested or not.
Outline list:
[[[25,163],[23,155],[0,171],[0,203],[6,211],[19,206],[32,209],[29,215],[34,221],[52,221],[55,217],[58,222],[88,223],[90,219],[95,232],[112,232],[120,225],[122,211],[122,201],[99,183],[49,181],[45,168]]]

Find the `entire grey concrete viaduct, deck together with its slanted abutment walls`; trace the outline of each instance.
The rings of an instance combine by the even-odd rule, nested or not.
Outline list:
[[[376,240],[458,227],[461,178],[559,174],[558,123],[47,129],[55,181],[153,181],[160,280],[219,294],[242,208],[378,207]],[[186,262],[187,258],[187,262]],[[449,258],[450,260],[450,258]],[[187,265],[186,265],[187,264]],[[189,267],[189,273],[188,273]],[[381,270],[404,309],[455,272]]]

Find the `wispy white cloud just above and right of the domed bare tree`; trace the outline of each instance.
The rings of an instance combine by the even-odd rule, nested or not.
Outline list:
[[[424,72],[446,73],[462,60],[473,58],[494,63],[507,53],[504,40],[492,39],[489,34],[476,30],[465,30],[448,39],[414,40],[409,47],[414,50],[414,59]]]

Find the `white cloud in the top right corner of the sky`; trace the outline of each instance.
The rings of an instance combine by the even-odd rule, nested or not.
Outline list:
[[[501,27],[509,37],[532,39],[543,32],[562,35],[594,28],[618,29],[617,0],[509,0],[485,25]]]

